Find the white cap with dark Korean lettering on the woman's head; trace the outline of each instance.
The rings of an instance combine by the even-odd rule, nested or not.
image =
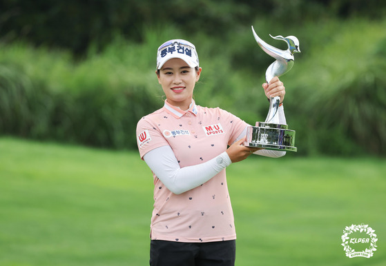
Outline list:
[[[157,70],[169,59],[179,58],[184,60],[191,68],[199,65],[195,45],[182,39],[174,39],[163,43],[157,51]]]

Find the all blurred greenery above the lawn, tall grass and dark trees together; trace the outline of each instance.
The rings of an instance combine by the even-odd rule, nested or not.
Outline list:
[[[162,106],[156,49],[177,38],[199,53],[197,104],[264,121],[273,60],[253,25],[282,49],[269,34],[300,40],[281,78],[291,156],[385,154],[385,1],[4,0],[0,10],[0,134],[135,150],[137,121]]]

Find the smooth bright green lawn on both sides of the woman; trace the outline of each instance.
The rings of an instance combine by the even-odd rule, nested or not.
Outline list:
[[[380,158],[249,157],[228,167],[236,265],[386,265]],[[153,180],[137,152],[0,139],[0,265],[148,265]],[[351,224],[378,234],[347,258]]]

